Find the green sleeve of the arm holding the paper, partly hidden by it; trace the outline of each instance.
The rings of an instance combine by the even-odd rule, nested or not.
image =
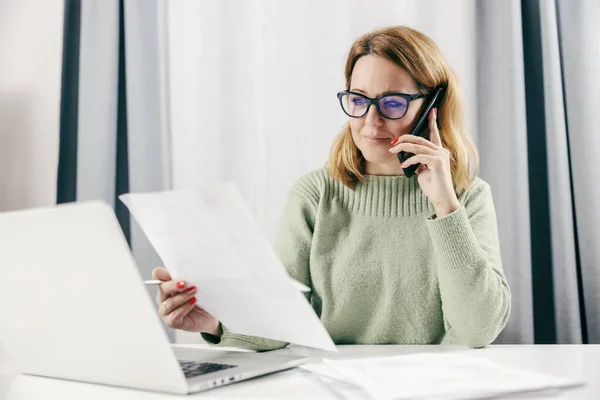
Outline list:
[[[309,258],[318,197],[314,196],[315,190],[311,189],[313,188],[310,185],[301,180],[288,194],[275,252],[290,277],[312,289]],[[307,293],[308,300],[310,300],[310,293],[312,291]],[[289,344],[278,340],[237,334],[231,332],[226,326],[223,326],[223,334],[220,338],[207,333],[201,335],[208,344],[214,347],[268,351],[281,349]]]

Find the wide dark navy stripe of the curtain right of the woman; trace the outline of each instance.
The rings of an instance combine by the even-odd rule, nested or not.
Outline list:
[[[548,123],[545,92],[548,75],[544,65],[541,2],[523,1],[523,54],[527,115],[527,153],[529,173],[529,212],[531,216],[531,269],[533,324],[536,343],[556,342],[553,270],[564,268],[552,258],[550,219],[550,181],[548,174]],[[551,27],[550,27],[551,29]],[[547,57],[548,58],[548,57]],[[548,64],[548,62],[546,63]],[[546,65],[547,66],[547,65]]]

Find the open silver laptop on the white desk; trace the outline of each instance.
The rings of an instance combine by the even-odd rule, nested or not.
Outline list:
[[[0,276],[0,343],[24,374],[189,394],[306,361],[172,347],[101,201],[0,213]]]

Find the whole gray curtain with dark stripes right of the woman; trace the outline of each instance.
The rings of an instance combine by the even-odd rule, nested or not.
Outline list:
[[[477,2],[481,176],[513,310],[498,343],[600,343],[600,2]]]

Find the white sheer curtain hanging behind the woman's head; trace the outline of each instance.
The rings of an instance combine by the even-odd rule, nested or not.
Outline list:
[[[173,187],[233,180],[270,240],[288,189],[325,163],[347,119],[335,94],[363,33],[407,24],[429,34],[477,131],[474,1],[188,0],[167,13]]]

